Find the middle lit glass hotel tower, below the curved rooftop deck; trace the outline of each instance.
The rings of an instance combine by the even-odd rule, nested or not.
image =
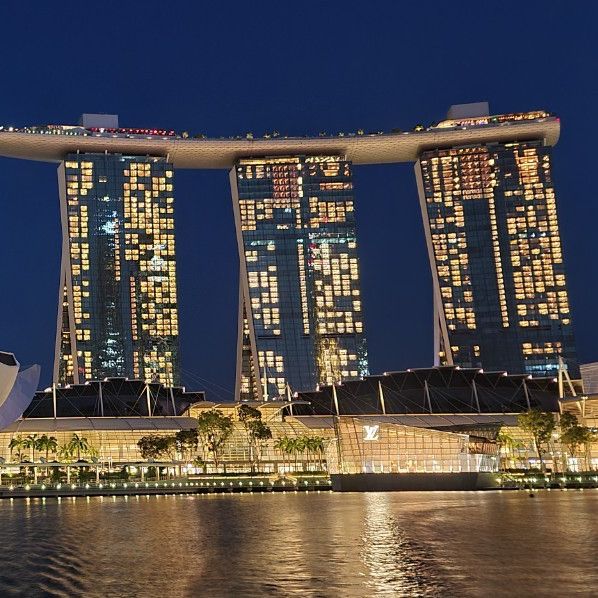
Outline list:
[[[241,293],[237,397],[367,374],[351,164],[246,159],[231,171]]]

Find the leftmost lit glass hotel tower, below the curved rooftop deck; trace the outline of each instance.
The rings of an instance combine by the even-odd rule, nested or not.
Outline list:
[[[179,381],[173,168],[70,154],[59,167],[63,256],[54,381]]]

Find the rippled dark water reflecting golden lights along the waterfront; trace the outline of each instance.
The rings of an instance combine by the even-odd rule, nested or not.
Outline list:
[[[598,596],[598,491],[0,502],[0,596]]]

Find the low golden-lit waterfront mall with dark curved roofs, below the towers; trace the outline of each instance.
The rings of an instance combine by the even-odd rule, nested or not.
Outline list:
[[[598,401],[584,395],[559,402],[555,379],[457,367],[368,376],[299,393],[290,401],[245,404],[258,408],[271,430],[272,438],[260,442],[257,450],[260,471],[272,475],[324,469],[345,475],[484,474],[498,471],[501,465],[537,466],[531,439],[517,425],[518,414],[529,408],[555,414],[564,409],[586,425],[598,425]],[[218,468],[210,455],[203,454],[201,443],[197,447],[201,466],[193,463],[193,455],[181,453],[159,463],[173,475],[247,472],[252,455],[239,405],[206,401],[203,393],[181,387],[122,378],[52,387],[38,392],[25,415],[0,432],[0,458],[4,471],[19,460],[33,460],[42,467],[43,452],[31,459],[30,449],[23,448],[17,455],[14,447],[9,448],[11,441],[45,434],[61,446],[77,434],[89,446],[82,458],[98,471],[134,467],[143,473],[156,463],[142,457],[138,446],[142,437],[195,429],[198,416],[217,409],[233,420]],[[497,442],[501,431],[517,440],[508,456],[501,456]],[[310,450],[303,443],[303,448],[284,452],[280,440],[289,438],[317,438],[321,449]],[[562,471],[563,458],[562,448],[553,442],[545,457],[548,467]],[[568,459],[570,469],[585,470],[584,459],[595,468],[598,451],[594,446],[589,455]]]

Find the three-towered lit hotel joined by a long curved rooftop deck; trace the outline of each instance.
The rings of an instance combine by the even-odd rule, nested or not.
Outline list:
[[[120,128],[110,115],[0,125],[0,156],[60,164],[54,381],[178,383],[175,168],[230,173],[236,398],[367,374],[352,168],[398,162],[415,163],[435,365],[553,377],[564,364],[578,378],[553,182],[560,128],[544,110],[490,115],[485,102],[411,131],[317,137],[194,137]]]

